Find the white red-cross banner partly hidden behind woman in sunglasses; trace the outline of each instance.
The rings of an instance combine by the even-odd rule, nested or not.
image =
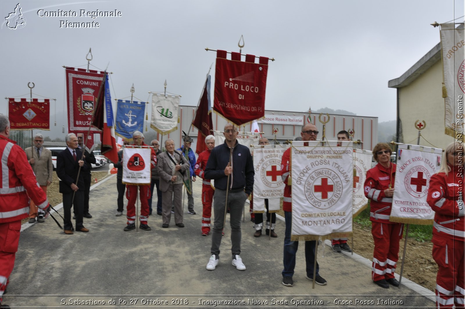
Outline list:
[[[353,149],[353,197],[352,215],[355,218],[368,206],[368,199],[363,191],[366,172],[372,165],[372,152],[363,149]]]

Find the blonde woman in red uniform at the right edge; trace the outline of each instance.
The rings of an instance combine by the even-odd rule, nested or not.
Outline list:
[[[442,159],[426,198],[435,212],[432,255],[438,263],[436,304],[437,308],[453,308],[454,304],[464,308],[464,144],[451,143]]]

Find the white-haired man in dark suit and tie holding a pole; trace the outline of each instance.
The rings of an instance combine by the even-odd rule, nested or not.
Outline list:
[[[65,141],[67,145],[66,149],[57,155],[56,172],[58,178],[60,178],[60,193],[63,194],[64,230],[65,234],[71,235],[73,234],[73,223],[71,222],[72,206],[76,215],[76,230],[80,232],[89,231],[82,225],[85,188],[82,169],[89,167],[87,167],[84,161],[80,160],[82,152],[78,148],[78,137],[74,133],[69,133],[66,135]],[[80,168],[81,172],[79,173]]]

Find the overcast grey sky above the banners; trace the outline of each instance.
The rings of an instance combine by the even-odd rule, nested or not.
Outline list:
[[[2,1],[1,16],[17,1]],[[379,121],[395,120],[396,90],[387,82],[399,77],[439,42],[434,21],[465,15],[464,0],[132,0],[20,2],[26,26],[1,27],[0,94],[56,98],[61,134],[66,123],[65,69],[87,67],[111,75],[112,98],[149,91],[182,95],[182,105],[197,105],[216,53],[206,47],[274,58],[266,85],[266,109],[306,111],[345,109]],[[38,11],[75,11],[77,17],[40,17]],[[80,17],[80,10],[121,12],[121,17]],[[42,11],[41,11],[42,12]],[[60,20],[98,22],[99,28],[60,28]],[[460,20],[463,21],[463,18]],[[212,82],[213,86],[213,82]],[[213,88],[212,88],[213,94]],[[213,99],[213,97],[212,97]],[[7,113],[7,100],[0,103]],[[52,134],[54,135],[54,134]]]

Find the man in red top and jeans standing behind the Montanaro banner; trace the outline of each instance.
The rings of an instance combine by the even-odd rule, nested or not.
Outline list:
[[[316,141],[317,140],[317,127],[312,123],[307,123],[302,127],[302,141]],[[308,146],[308,143],[304,143],[304,146]],[[294,281],[292,276],[294,275],[295,268],[295,256],[297,254],[297,249],[299,248],[299,242],[291,241],[291,224],[292,224],[292,188],[291,188],[291,178],[289,176],[291,172],[291,148],[287,148],[283,154],[281,161],[281,177],[285,183],[284,187],[284,218],[286,221],[286,231],[284,234],[284,258],[283,264],[284,269],[282,271],[283,275],[283,284],[292,287]],[[313,280],[313,264],[315,263],[315,246],[316,241],[306,241],[305,242],[305,262],[306,262],[306,278],[308,280]],[[326,280],[319,275],[319,265],[316,263],[316,275],[315,282],[319,285],[326,285]]]

